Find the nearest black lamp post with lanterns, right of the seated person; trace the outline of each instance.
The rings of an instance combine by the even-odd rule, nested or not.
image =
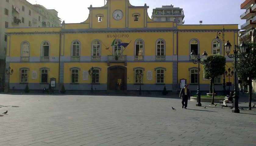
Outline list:
[[[244,54],[246,52],[246,45],[244,42],[242,42],[239,46],[240,48],[240,52],[239,50],[236,50],[236,45],[234,47],[234,54],[229,54],[230,53],[230,50],[231,50],[231,43],[229,43],[229,41],[227,41],[227,43],[225,43],[224,47],[225,47],[225,51],[228,55],[229,58],[234,58],[235,60],[235,85],[234,85],[234,96],[235,96],[235,109],[233,108],[232,109],[232,113],[240,113],[240,110],[238,109],[238,95],[236,94],[237,92],[237,89],[236,89],[236,58],[242,58],[244,57]]]

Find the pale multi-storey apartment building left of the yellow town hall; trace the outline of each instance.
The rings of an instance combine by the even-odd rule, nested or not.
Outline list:
[[[0,0],[0,85],[4,84],[7,28],[56,27],[61,20],[54,9],[26,0]]]

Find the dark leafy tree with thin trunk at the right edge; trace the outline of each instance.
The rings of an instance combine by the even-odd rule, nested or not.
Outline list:
[[[256,43],[246,43],[246,54],[236,64],[237,76],[249,85],[249,110],[251,110],[252,81],[256,80]]]

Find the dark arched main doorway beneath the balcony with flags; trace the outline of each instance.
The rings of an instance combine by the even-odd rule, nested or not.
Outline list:
[[[119,86],[117,86],[117,82]],[[120,85],[122,82],[122,85]],[[108,68],[108,90],[126,90],[127,68],[120,65]]]

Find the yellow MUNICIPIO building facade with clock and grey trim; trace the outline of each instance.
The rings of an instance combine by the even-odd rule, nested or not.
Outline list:
[[[6,86],[9,82],[17,90],[26,85],[42,90],[56,78],[55,90],[64,85],[69,91],[137,91],[140,86],[142,91],[162,91],[164,86],[178,91],[183,78],[190,90],[196,90],[198,65],[190,60],[191,51],[223,55],[222,40],[215,41],[223,26],[225,40],[237,43],[237,24],[156,22],[149,18],[148,8],[130,5],[129,0],[108,0],[103,7],[90,6],[82,23],[9,28],[6,67],[13,74],[6,76]],[[232,60],[226,58],[226,67],[232,68]],[[202,65],[199,72],[201,90],[209,90]],[[216,90],[222,90],[222,78],[216,79]]]

